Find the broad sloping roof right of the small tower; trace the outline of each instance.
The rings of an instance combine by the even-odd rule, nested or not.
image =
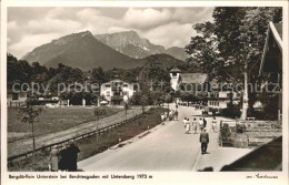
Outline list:
[[[188,84],[201,84],[208,80],[208,74],[206,73],[181,73],[180,81],[181,83]]]

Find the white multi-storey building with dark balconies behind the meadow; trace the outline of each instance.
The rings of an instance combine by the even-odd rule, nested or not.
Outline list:
[[[102,83],[100,94],[104,96],[111,105],[120,105],[133,95],[137,88],[138,86],[133,83],[128,83],[116,79],[110,82]]]

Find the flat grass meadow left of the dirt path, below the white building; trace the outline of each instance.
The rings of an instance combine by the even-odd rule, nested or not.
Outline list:
[[[107,114],[103,116],[112,115],[123,109],[106,107]],[[101,116],[101,117],[103,117]],[[44,109],[41,115],[34,123],[36,136],[49,133],[56,133],[80,125],[82,123],[96,121],[93,109],[86,107],[57,107]],[[27,138],[31,135],[31,125],[21,122],[21,116],[17,109],[8,109],[8,141],[13,142],[17,140]]]

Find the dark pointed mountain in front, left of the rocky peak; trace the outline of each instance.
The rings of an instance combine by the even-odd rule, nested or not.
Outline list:
[[[57,66],[58,63],[63,63],[82,70],[98,66],[102,66],[103,70],[132,69],[142,64],[99,42],[89,31],[52,40],[27,53],[22,60],[31,63],[39,62],[46,66]]]

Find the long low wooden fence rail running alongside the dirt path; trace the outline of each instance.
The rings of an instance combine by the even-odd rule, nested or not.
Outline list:
[[[91,131],[91,132],[88,132],[88,133],[84,133],[84,134],[81,134],[81,135],[77,135],[77,136],[73,136],[71,138],[63,140],[61,142],[56,142],[56,143],[52,143],[52,144],[49,144],[49,145],[46,145],[46,146],[42,146],[42,147],[38,147],[38,148],[34,150],[34,152],[40,152],[40,151],[43,151],[46,148],[50,148],[51,150],[52,146],[57,146],[57,145],[60,145],[60,144],[63,144],[63,143],[68,143],[71,140],[79,141],[79,140],[83,140],[83,138],[86,138],[88,136],[92,136],[92,135],[96,135],[96,134],[102,134],[104,132],[111,131],[114,127],[118,127],[118,126],[121,126],[121,125],[123,125],[123,124],[126,124],[128,122],[131,122],[131,121],[133,121],[133,120],[136,120],[136,119],[138,119],[140,116],[142,116],[142,113],[140,113],[138,115],[134,115],[133,117],[127,119],[124,121],[121,121],[119,123],[109,125],[109,126],[97,129],[94,131]],[[8,162],[12,162],[12,161],[19,160],[19,158],[27,158],[29,156],[32,156],[32,154],[33,154],[33,151],[28,151],[28,152],[22,153],[22,154],[13,155],[13,156],[8,157]]]

